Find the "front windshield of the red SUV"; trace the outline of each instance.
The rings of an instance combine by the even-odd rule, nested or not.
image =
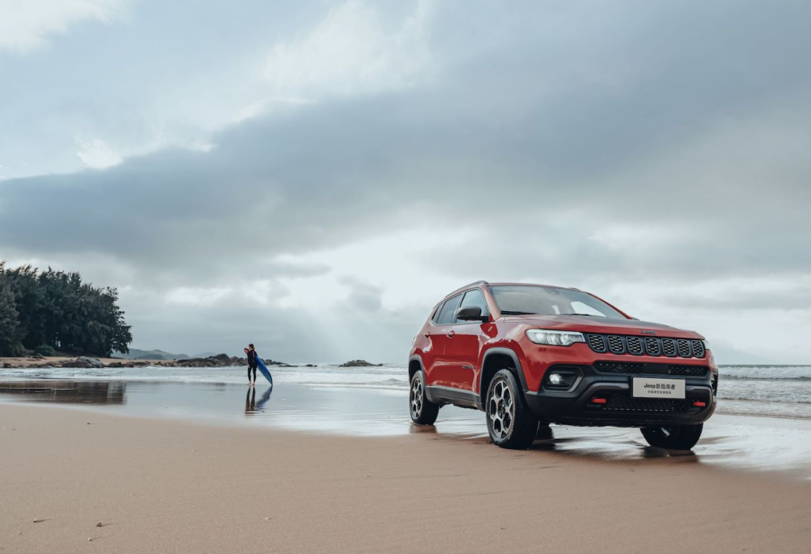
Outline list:
[[[489,289],[504,316],[543,314],[626,319],[607,303],[579,290],[532,285],[491,286]]]

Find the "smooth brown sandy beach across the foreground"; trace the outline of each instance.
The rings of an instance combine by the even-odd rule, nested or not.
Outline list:
[[[694,457],[609,463],[431,432],[324,436],[28,405],[0,406],[0,444],[0,552],[811,545],[811,483]]]

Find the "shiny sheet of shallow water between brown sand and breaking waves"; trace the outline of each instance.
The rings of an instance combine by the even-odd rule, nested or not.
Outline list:
[[[407,391],[307,386],[277,379],[245,384],[199,380],[5,380],[0,402],[31,402],[103,410],[109,414],[171,417],[225,426],[281,427],[303,432],[393,436],[436,433],[448,440],[487,442],[484,415],[444,406],[435,427],[411,425]],[[2,422],[0,422],[2,424]],[[553,426],[535,450],[603,462],[678,458],[745,470],[783,470],[811,479],[811,421],[716,414],[692,452],[647,446],[637,429]]]

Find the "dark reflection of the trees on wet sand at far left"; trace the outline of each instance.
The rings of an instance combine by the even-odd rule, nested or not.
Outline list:
[[[0,395],[25,402],[55,404],[125,404],[126,381],[6,381],[0,382]]]

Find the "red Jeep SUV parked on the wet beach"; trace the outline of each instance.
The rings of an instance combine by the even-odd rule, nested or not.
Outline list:
[[[548,424],[641,427],[651,446],[691,449],[715,410],[704,337],[633,318],[577,289],[478,281],[448,294],[414,337],[410,411],[487,414],[492,441],[526,449]]]

